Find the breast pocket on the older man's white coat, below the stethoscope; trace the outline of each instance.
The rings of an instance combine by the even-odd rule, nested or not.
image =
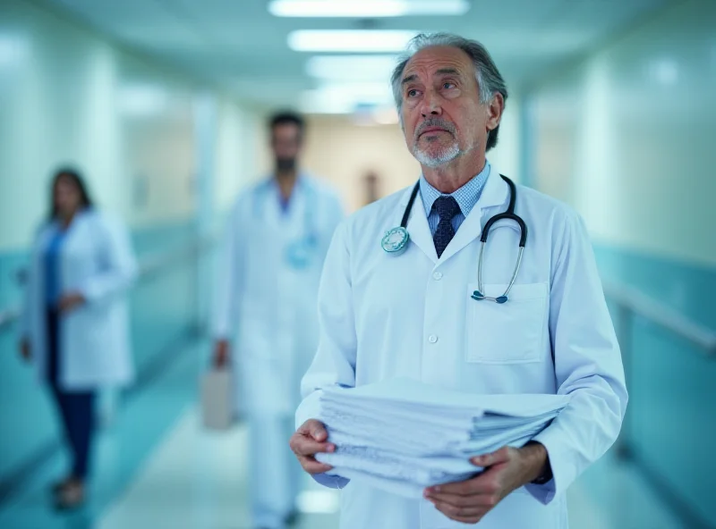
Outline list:
[[[477,283],[468,285],[468,297]],[[483,285],[486,296],[501,296],[507,284]],[[548,288],[546,283],[514,285],[506,303],[468,299],[467,362],[524,364],[539,362],[545,350]]]

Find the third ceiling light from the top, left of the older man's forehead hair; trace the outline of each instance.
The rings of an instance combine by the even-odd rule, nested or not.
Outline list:
[[[315,55],[306,63],[306,74],[320,80],[388,83],[396,63],[396,55]]]

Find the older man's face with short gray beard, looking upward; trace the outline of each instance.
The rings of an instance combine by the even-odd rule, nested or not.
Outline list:
[[[475,68],[463,50],[436,46],[413,55],[401,92],[405,143],[422,165],[438,167],[476,147],[484,152],[490,105],[480,103]]]

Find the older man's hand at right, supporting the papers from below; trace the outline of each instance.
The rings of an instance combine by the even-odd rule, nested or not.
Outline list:
[[[441,513],[464,524],[478,523],[507,494],[540,477],[548,464],[547,449],[537,442],[522,449],[503,447],[470,462],[484,471],[467,481],[436,485],[423,493]]]

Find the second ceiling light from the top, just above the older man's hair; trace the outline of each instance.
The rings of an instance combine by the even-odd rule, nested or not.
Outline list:
[[[418,31],[377,29],[299,29],[288,35],[297,52],[395,53],[405,50]]]

